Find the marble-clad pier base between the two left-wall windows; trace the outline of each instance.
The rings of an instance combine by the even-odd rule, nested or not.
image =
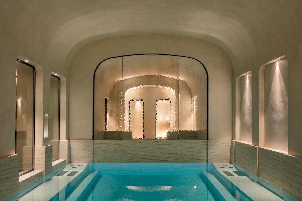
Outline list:
[[[36,146],[35,147],[35,170],[43,170],[44,175],[50,174],[53,170],[53,147],[48,146]]]

